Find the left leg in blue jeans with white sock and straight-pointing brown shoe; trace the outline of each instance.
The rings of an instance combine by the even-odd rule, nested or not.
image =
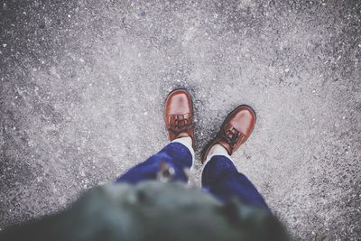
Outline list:
[[[120,176],[116,182],[187,181],[185,169],[194,160],[193,107],[190,94],[184,89],[171,91],[165,101],[165,126],[171,144]]]

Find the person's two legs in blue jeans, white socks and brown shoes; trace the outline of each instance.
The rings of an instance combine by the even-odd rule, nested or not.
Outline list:
[[[174,90],[165,103],[165,123],[171,140],[159,153],[136,165],[116,182],[137,183],[150,180],[188,181],[194,162],[194,125],[190,94]],[[231,155],[244,144],[255,126],[251,107],[236,107],[226,118],[217,136],[203,149],[202,187],[217,199],[237,198],[261,208],[268,207],[264,198],[244,174],[237,171]]]

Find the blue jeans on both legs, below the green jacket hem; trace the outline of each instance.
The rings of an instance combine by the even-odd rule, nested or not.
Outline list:
[[[116,182],[156,180],[162,163],[174,171],[172,181],[188,181],[185,169],[192,165],[190,150],[183,144],[171,143],[145,162],[126,171]],[[216,155],[209,160],[202,172],[202,187],[221,201],[236,198],[248,205],[269,210],[255,186],[236,170],[236,166],[226,156]]]

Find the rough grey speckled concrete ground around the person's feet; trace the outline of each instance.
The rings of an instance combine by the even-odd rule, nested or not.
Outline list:
[[[182,87],[199,150],[230,110],[255,108],[234,160],[295,239],[361,236],[360,1],[0,9],[0,228],[63,209],[160,150],[163,101]]]

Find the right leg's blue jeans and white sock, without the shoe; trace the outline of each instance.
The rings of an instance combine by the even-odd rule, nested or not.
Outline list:
[[[208,153],[202,172],[202,187],[222,201],[237,198],[248,205],[269,210],[264,198],[252,182],[237,171],[232,158],[220,144]]]

